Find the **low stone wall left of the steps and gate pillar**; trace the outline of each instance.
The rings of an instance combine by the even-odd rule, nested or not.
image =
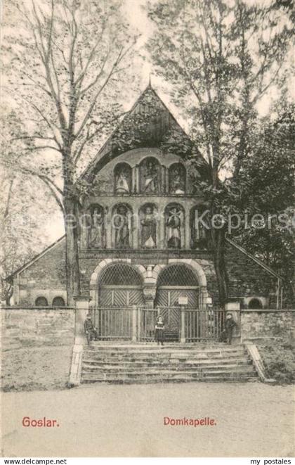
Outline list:
[[[2,308],[3,350],[72,345],[74,313],[70,308]]]

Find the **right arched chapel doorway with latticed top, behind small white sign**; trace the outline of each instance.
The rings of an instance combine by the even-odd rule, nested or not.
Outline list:
[[[198,308],[199,285],[195,272],[184,264],[165,267],[157,280],[155,306],[164,317],[166,338],[179,340],[181,305]]]

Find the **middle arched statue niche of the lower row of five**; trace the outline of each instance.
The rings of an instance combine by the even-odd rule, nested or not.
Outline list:
[[[159,241],[158,233],[158,210],[153,203],[145,203],[139,210],[139,244],[140,248],[157,248]]]

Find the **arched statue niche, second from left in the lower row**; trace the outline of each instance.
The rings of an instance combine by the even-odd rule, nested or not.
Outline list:
[[[129,249],[133,246],[133,211],[126,203],[112,208],[112,248]]]

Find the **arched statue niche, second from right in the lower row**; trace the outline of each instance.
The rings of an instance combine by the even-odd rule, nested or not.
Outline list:
[[[166,248],[181,249],[185,243],[185,212],[178,203],[169,203],[165,208]]]

